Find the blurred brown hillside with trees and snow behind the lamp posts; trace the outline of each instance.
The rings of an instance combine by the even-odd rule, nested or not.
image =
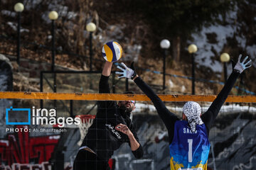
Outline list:
[[[176,26],[171,23],[175,20],[169,21],[173,17],[172,14],[177,15],[178,18],[177,11],[168,11],[169,8],[172,8],[171,4],[164,4],[165,2],[161,1],[159,3],[161,6],[156,6],[154,1],[146,2],[148,6],[144,4],[144,1],[132,0],[23,1],[25,10],[21,13],[21,57],[50,63],[52,37],[48,13],[55,10],[59,14],[58,20],[55,21],[57,48],[55,63],[64,67],[79,70],[89,69],[89,33],[85,29],[89,22],[94,22],[97,25],[97,30],[93,33],[93,70],[102,69],[104,60],[101,48],[109,40],[117,40],[122,45],[124,49],[123,62],[129,63],[134,60],[137,67],[162,72],[163,51],[159,47],[159,42],[162,39],[169,39],[171,48],[167,56],[166,73],[186,77],[191,77],[191,57],[187,52],[187,47],[194,43],[198,45],[196,54],[196,77],[198,79],[223,81],[223,67],[219,60],[222,52],[228,52],[235,61],[240,53],[250,55],[252,60],[255,60],[256,4],[254,1],[231,1],[230,7],[227,5],[225,13],[222,11],[219,14],[210,13],[211,11],[204,13],[209,16],[202,18],[208,19],[209,22],[203,21],[199,24],[199,21],[194,18],[198,28],[191,27],[188,33],[183,33],[186,36],[175,32]],[[0,53],[2,54],[16,54],[15,3],[16,1],[1,1]],[[173,3],[174,6],[182,5],[177,4],[176,1],[170,3]],[[210,5],[220,8],[217,4]],[[194,8],[201,11],[203,8],[209,8],[201,6],[201,4],[185,7],[191,8],[191,11]],[[164,10],[159,13],[161,9]],[[182,15],[193,16],[194,14],[191,13],[183,11],[179,16],[186,18]],[[163,16],[163,21],[166,21],[166,27],[163,25],[163,21],[156,22],[161,16]],[[210,18],[215,18],[215,20]],[[187,23],[185,19],[183,21],[183,23],[179,21],[177,25],[185,24],[183,27],[186,27],[192,24],[191,22]],[[170,31],[167,28],[170,28]],[[144,69],[138,69],[139,74],[150,84],[161,86],[161,74],[146,72]],[[228,73],[230,73],[231,64],[228,69]],[[243,76],[243,81],[238,81],[236,85],[242,84],[242,88],[256,92],[254,75],[255,64]],[[167,93],[191,94],[190,79],[169,76],[166,79]],[[196,94],[217,94],[221,87],[220,84],[198,81]],[[159,93],[161,92],[159,91]],[[237,94],[237,91],[233,91],[233,93]]]

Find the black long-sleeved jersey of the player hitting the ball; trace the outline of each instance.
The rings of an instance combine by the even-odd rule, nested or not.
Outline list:
[[[109,77],[101,76],[100,93],[110,93],[108,79]],[[119,123],[127,125],[137,142],[139,142],[134,124],[129,118],[129,113],[126,113],[123,108],[119,108],[115,101],[99,101],[97,115],[81,147],[89,147],[97,154],[97,157],[107,162],[112,157],[114,150],[118,149],[123,143],[127,142],[130,145],[127,135],[114,129]],[[142,146],[139,144],[139,148],[132,151],[132,153],[134,157],[141,158],[143,155]]]

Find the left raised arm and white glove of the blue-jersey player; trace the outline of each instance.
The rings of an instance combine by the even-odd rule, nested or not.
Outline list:
[[[117,67],[122,72],[116,72],[120,74],[118,78],[126,77],[128,79],[134,80],[134,82],[139,86],[146,96],[148,96],[151,101],[154,103],[157,113],[159,113],[160,118],[164,121],[166,128],[171,130],[174,127],[174,123],[178,120],[177,116],[174,113],[171,113],[165,106],[164,102],[161,101],[161,98],[157,96],[154,91],[147,85],[134,71],[134,63],[132,62],[131,68],[127,67],[124,63],[121,63],[122,67]]]

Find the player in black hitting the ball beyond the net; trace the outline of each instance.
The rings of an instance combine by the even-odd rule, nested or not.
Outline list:
[[[99,93],[110,93],[108,79],[111,74],[112,62],[105,62],[100,78]],[[135,109],[134,101],[99,101],[97,115],[89,128],[85,139],[75,158],[73,169],[110,169],[108,160],[114,150],[128,143],[134,157],[143,156],[137,132],[129,118]]]

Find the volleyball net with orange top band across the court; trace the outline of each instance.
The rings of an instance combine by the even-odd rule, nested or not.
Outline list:
[[[186,101],[198,102],[205,113],[216,98],[159,97],[178,118]],[[112,169],[169,169],[168,134],[144,94],[0,92],[0,100],[0,169],[72,169],[82,139],[97,114],[97,101],[137,101],[131,118],[144,157],[136,159],[129,145],[124,144],[109,161]],[[210,169],[256,166],[255,113],[256,96],[228,96],[210,129]]]

